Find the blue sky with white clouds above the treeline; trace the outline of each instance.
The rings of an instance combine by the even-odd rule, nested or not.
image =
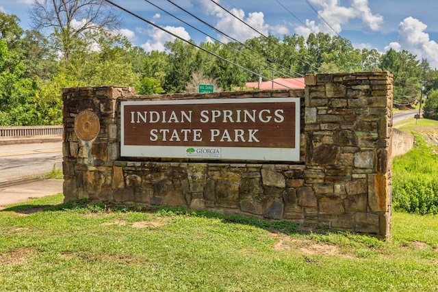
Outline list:
[[[182,38],[205,42],[209,38],[185,25],[144,0],[112,0],[143,18],[166,27]],[[149,0],[205,31],[213,38],[227,41],[216,31],[196,21],[166,0]],[[237,40],[259,36],[211,0],[172,0],[220,31]],[[29,8],[34,0],[0,0],[0,11],[16,14],[21,27],[30,28]],[[220,5],[239,16],[257,31],[279,38],[284,35],[310,32],[339,34],[357,48],[407,49],[420,58],[428,59],[438,68],[438,1],[425,0],[217,0]],[[315,12],[318,11],[317,12]],[[146,51],[163,50],[172,36],[154,29],[147,23],[120,11],[123,25],[120,33]],[[77,21],[82,21],[77,19]],[[329,25],[327,25],[327,23]]]

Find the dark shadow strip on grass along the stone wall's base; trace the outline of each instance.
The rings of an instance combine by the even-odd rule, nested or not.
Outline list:
[[[143,212],[153,213],[158,216],[177,216],[185,215],[191,217],[205,217],[221,220],[224,224],[244,224],[263,228],[272,233],[283,233],[285,235],[306,234],[306,233],[326,233],[324,226],[302,226],[296,222],[287,220],[268,220],[261,217],[230,214],[224,215],[213,211],[198,211],[184,209],[183,207],[161,207],[146,206],[138,203],[128,202],[92,202],[90,200],[75,200],[62,204],[17,204],[12,207],[0,210],[0,212],[15,212],[25,215],[44,211],[75,211],[77,213],[126,213],[126,212]],[[333,232],[333,230],[331,230]]]

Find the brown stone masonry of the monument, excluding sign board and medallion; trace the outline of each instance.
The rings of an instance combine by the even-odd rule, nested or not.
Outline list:
[[[390,237],[389,72],[307,75],[305,90],[135,96],[131,88],[66,88],[66,201],[116,200],[240,213]],[[120,157],[120,101],[300,97],[300,161],[193,162]],[[75,133],[75,117],[99,117],[96,138]]]

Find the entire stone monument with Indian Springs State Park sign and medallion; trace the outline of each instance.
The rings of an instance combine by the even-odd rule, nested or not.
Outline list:
[[[305,90],[65,88],[65,200],[239,213],[390,237],[392,75]]]

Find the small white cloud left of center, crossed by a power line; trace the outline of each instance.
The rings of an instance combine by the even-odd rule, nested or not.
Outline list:
[[[180,38],[183,38],[183,40],[190,40],[190,35],[187,31],[185,31],[184,27],[164,27],[164,29],[172,32],[172,34],[175,34],[179,36]],[[162,31],[161,29],[151,29],[149,31],[145,31],[146,34],[148,34],[152,39],[148,40],[144,44],[141,45],[141,47],[146,52],[151,51],[165,51],[164,44],[166,42],[172,42],[175,40],[175,36],[172,36],[168,34],[166,31]]]

